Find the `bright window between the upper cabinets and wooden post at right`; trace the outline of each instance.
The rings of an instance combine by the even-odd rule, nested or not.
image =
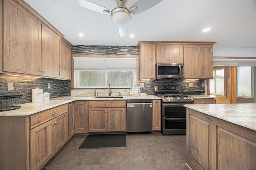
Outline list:
[[[210,94],[225,95],[224,68],[213,71],[213,79],[210,80]]]

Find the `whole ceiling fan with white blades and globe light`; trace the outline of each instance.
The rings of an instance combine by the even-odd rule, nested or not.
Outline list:
[[[77,0],[77,4],[84,8],[88,8],[102,14],[110,14],[114,24],[119,27],[119,34],[122,38],[127,35],[127,25],[132,19],[133,15],[148,10],[149,8],[155,6],[161,1],[162,0],[138,0],[132,6],[130,6],[130,8],[127,8],[126,0],[116,0],[116,7],[113,10],[109,10],[103,6],[94,4],[93,2],[89,2],[87,0]]]

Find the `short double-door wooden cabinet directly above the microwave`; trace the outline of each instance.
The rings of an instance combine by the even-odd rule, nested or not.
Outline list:
[[[182,45],[156,45],[156,63],[183,63]]]

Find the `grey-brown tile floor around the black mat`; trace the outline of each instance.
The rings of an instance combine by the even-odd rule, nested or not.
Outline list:
[[[127,134],[126,148],[78,149],[75,135],[42,170],[189,170],[186,135]]]

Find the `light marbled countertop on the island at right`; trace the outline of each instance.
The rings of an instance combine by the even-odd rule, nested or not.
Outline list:
[[[184,106],[256,131],[256,104],[186,104]]]

